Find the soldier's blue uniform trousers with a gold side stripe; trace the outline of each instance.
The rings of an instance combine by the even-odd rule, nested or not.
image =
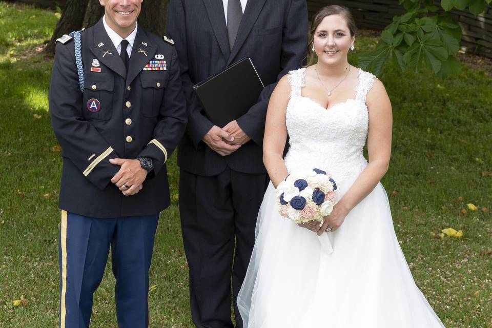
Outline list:
[[[149,269],[159,214],[91,218],[61,212],[60,328],[87,328],[111,247],[119,328],[149,324]]]

